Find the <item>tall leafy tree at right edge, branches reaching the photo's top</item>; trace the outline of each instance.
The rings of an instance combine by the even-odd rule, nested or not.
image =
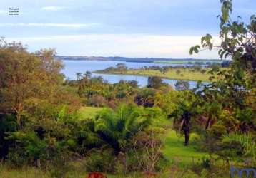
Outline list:
[[[198,53],[201,48],[217,48],[220,58],[232,58],[229,69],[212,68],[220,80],[208,85],[198,83],[194,90],[193,127],[205,130],[205,138],[214,140],[212,145],[217,145],[225,134],[253,133],[256,128],[256,16],[250,17],[249,24],[240,21],[240,17],[232,21],[232,1],[221,3],[220,45],[212,43],[212,36],[207,34],[202,37],[201,46],[189,50]]]

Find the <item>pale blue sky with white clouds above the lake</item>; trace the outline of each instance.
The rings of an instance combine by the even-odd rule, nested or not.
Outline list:
[[[56,48],[61,56],[218,58],[189,56],[189,47],[219,26],[219,0],[0,0],[0,36],[29,51]],[[233,0],[232,18],[248,21],[256,0]],[[19,8],[19,15],[9,15]]]

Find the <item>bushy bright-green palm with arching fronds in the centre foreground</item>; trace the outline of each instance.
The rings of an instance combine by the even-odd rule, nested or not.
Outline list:
[[[117,110],[106,108],[99,112],[94,131],[118,155],[122,151],[122,143],[132,139],[137,132],[145,130],[151,120],[152,113],[147,108],[120,105]]]

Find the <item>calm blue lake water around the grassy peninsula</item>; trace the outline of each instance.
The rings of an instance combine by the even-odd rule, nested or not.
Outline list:
[[[119,61],[63,61],[65,68],[62,70],[66,78],[76,79],[76,73],[85,73],[86,71],[93,72],[95,70],[103,70],[105,68],[114,67]],[[162,64],[162,63],[127,63],[128,68],[142,68],[144,66],[178,66],[175,64]],[[180,66],[180,64],[179,64]],[[119,80],[137,80],[140,86],[147,85],[146,76],[138,75],[112,75],[112,74],[98,74],[92,73],[92,76],[102,76],[104,80],[109,83],[118,83]],[[165,83],[174,86],[177,80],[163,79]],[[195,88],[197,82],[189,81],[190,88]]]

